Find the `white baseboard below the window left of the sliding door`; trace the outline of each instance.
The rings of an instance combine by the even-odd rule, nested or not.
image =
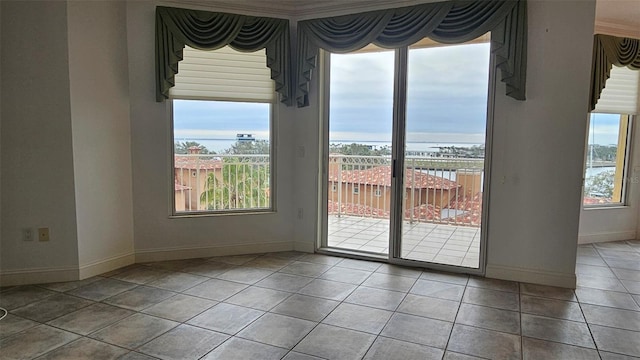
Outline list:
[[[293,250],[291,241],[136,250],[136,263]]]

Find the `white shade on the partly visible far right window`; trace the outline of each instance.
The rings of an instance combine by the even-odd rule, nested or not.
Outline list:
[[[593,112],[609,114],[638,114],[640,70],[613,66],[600,99]]]

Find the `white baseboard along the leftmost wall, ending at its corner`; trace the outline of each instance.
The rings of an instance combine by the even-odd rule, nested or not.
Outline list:
[[[0,286],[78,280],[77,267],[18,269],[0,272]]]

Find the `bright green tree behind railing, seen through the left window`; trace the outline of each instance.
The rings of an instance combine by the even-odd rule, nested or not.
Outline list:
[[[209,173],[200,202],[209,210],[251,209],[268,203],[268,164],[246,164],[240,158],[223,160],[221,179]]]

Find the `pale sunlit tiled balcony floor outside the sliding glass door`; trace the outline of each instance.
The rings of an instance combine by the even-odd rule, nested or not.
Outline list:
[[[389,253],[389,219],[329,215],[330,247]],[[403,222],[402,256],[405,259],[477,268],[480,263],[480,228]]]

